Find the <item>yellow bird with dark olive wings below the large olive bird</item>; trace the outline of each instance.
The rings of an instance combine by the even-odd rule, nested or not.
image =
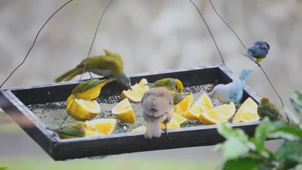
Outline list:
[[[91,79],[78,84],[67,99],[67,105],[75,98],[92,100],[100,95],[101,89],[107,83],[116,81],[117,79],[98,80]]]

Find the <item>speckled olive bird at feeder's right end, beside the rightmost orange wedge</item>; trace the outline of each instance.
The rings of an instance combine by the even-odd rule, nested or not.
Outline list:
[[[289,122],[287,115],[283,116],[275,104],[271,103],[267,97],[260,98],[257,113],[261,119],[268,116],[271,120],[286,120]]]

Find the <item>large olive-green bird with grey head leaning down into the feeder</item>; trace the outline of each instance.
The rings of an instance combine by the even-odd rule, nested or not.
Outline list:
[[[87,63],[85,72],[92,72],[106,78],[117,78],[119,84],[125,85],[127,88],[131,89],[130,79],[124,73],[122,56],[106,49],[104,49],[104,52],[105,55],[85,58],[74,69],[55,79],[55,82],[72,80],[75,76],[82,74],[84,66]]]

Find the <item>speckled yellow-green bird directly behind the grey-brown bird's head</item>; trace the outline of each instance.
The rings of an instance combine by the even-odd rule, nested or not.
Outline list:
[[[175,92],[182,92],[183,90],[182,82],[178,79],[171,79],[171,78],[161,79],[154,83],[148,83],[146,85],[148,85],[150,88],[166,87],[168,90],[175,91]]]

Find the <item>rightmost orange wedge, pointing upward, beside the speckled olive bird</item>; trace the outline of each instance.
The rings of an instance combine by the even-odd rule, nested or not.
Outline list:
[[[233,123],[258,121],[260,119],[257,113],[257,103],[248,97],[240,106],[233,118]]]

